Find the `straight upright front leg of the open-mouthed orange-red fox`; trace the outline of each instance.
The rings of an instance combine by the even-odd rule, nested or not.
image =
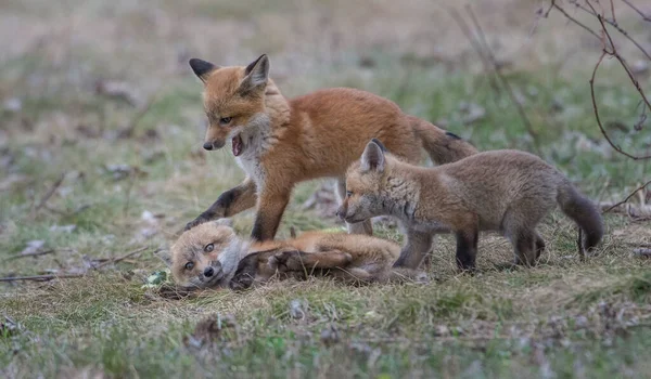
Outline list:
[[[254,240],[273,239],[280,219],[290,202],[292,191],[263,191],[258,199],[257,214],[251,238]]]

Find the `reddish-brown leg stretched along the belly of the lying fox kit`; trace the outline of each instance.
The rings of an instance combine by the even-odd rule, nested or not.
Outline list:
[[[273,256],[276,264],[286,267],[288,271],[305,271],[312,269],[346,267],[353,258],[341,250],[320,252],[303,252],[297,250],[281,251]],[[270,262],[271,264],[271,262]]]

